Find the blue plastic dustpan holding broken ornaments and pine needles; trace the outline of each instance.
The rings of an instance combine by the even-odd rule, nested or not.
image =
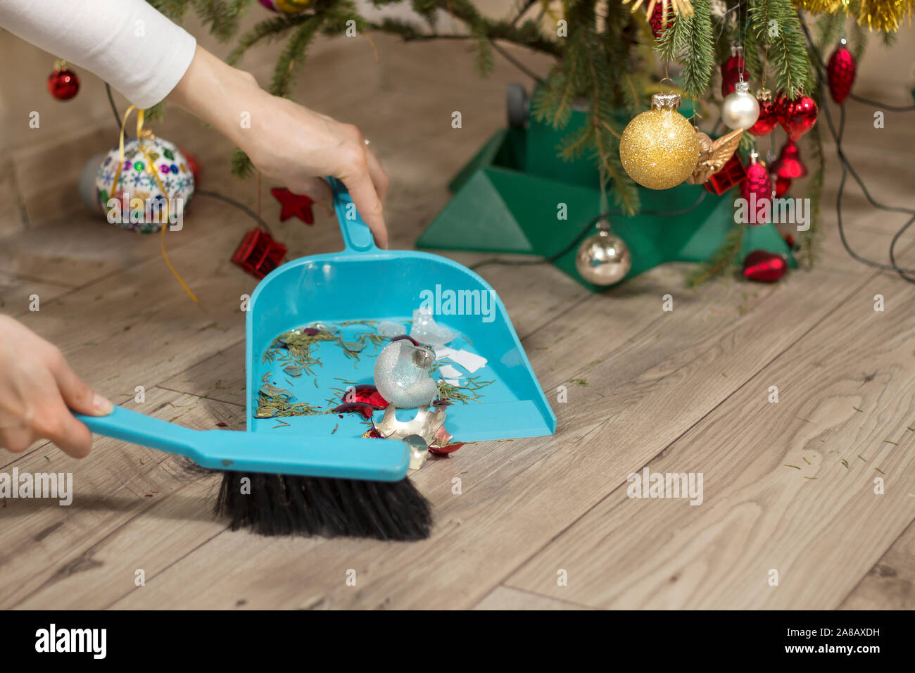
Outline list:
[[[460,336],[447,346],[476,353],[486,364],[469,373],[447,359],[462,375],[458,385],[472,380],[482,385],[479,398],[447,407],[445,427],[455,441],[505,440],[553,434],[556,418],[546,401],[521,342],[511,326],[505,307],[490,285],[445,257],[423,252],[382,250],[375,246],[369,227],[362,221],[346,188],[328,179],[334,191],[334,207],[346,248],[339,253],[311,255],[279,266],[255,288],[247,316],[248,429],[271,437],[288,433],[327,441],[331,437],[359,438],[366,424],[359,414],[320,413],[285,417],[289,427],[277,428],[276,418],[254,418],[258,391],[270,383],[290,391],[294,402],[307,402],[328,412],[342,402],[349,385],[373,383],[375,357],[371,346],[358,360],[347,357],[339,345],[319,342],[320,366],[311,374],[289,377],[284,364],[265,362],[263,354],[274,339],[290,330],[322,324],[342,333],[343,339],[357,332],[374,330],[390,321],[409,329],[414,309],[423,299],[465,292],[464,303],[479,308],[478,314],[458,315],[433,306],[436,323]],[[483,295],[486,299],[482,299]],[[476,297],[485,304],[476,303]],[[491,302],[491,303],[490,303]],[[483,312],[482,309],[489,309]],[[349,324],[352,321],[364,321]],[[372,322],[377,321],[377,322]],[[437,377],[437,376],[436,376]],[[446,377],[447,378],[447,377]],[[490,383],[486,383],[490,382]],[[485,384],[485,385],[483,385]],[[414,409],[398,409],[397,418],[410,420]],[[380,421],[382,412],[376,412]],[[378,441],[378,440],[363,440]]]

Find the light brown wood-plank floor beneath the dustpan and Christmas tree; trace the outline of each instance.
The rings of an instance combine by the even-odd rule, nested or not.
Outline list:
[[[503,124],[504,84],[522,76],[500,61],[480,81],[455,42],[376,42],[377,65],[362,40],[322,42],[298,98],[371,138],[393,178],[393,244],[411,247],[447,202],[447,180]],[[524,58],[545,72],[544,60]],[[911,206],[910,118],[888,114],[876,130],[871,110],[848,108],[847,152],[874,196]],[[455,110],[461,129],[450,125]],[[157,130],[199,155],[206,189],[253,204],[253,183],[228,176],[220,136],[177,110]],[[200,197],[184,231],[167,234],[199,296],[191,303],[157,237],[119,232],[72,196],[74,170],[115,140],[100,117],[65,146],[0,157],[0,309],[58,343],[118,404],[242,429],[239,303],[255,281],[228,260],[251,223]],[[71,164],[65,177],[49,168],[51,152]],[[820,261],[776,285],[727,278],[686,290],[686,267],[665,266],[594,295],[552,266],[482,268],[558,429],[471,445],[414,472],[435,506],[430,539],[231,532],[210,516],[218,479],[189,477],[166,454],[98,438],[89,459],[73,461],[43,444],[0,452],[0,472],[73,472],[76,494],[70,507],[0,507],[0,607],[915,607],[915,288],[841,248],[832,150],[829,159]],[[886,261],[903,217],[874,211],[856,189],[845,205],[850,243]],[[269,195],[264,212],[277,221]],[[313,228],[275,228],[292,256],[340,247],[326,215]],[[915,266],[915,254],[902,261]],[[38,312],[28,310],[33,294]],[[673,312],[662,310],[665,294]],[[874,310],[876,295],[886,310]],[[560,385],[566,403],[556,402]],[[627,476],[645,466],[702,472],[704,503],[630,499]]]

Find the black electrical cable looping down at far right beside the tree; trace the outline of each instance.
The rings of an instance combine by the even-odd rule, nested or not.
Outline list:
[[[845,134],[845,105],[843,104],[839,106],[839,125],[836,129],[836,126],[833,123],[833,115],[829,111],[829,105],[826,103],[825,93],[823,92],[823,71],[825,68],[823,66],[822,55],[820,54],[819,49],[817,49],[816,45],[813,43],[813,38],[811,37],[810,30],[807,28],[807,24],[803,20],[801,21],[801,27],[813,51],[814,63],[816,65],[817,71],[817,88],[820,90],[821,100],[823,101],[822,107],[826,118],[826,125],[829,126],[829,132],[835,141],[836,155],[839,157],[839,162],[842,164],[842,179],[839,180],[839,189],[835,196],[835,218],[838,225],[839,238],[842,240],[842,245],[845,247],[845,252],[847,252],[848,255],[851,255],[853,259],[861,262],[862,264],[883,269],[885,271],[895,271],[897,274],[899,274],[899,277],[915,284],[915,278],[910,276],[911,274],[915,274],[915,271],[911,269],[903,269],[896,263],[896,244],[899,243],[899,238],[909,229],[911,224],[915,223],[915,210],[911,208],[903,208],[901,206],[888,206],[885,203],[879,203],[876,201],[874,197],[871,196],[870,191],[867,190],[867,186],[864,184],[864,180],[861,179],[861,177],[857,174],[855,168],[853,168],[851,163],[848,161],[848,157],[845,156],[845,150],[842,148],[842,138]],[[867,104],[872,104],[875,107],[881,107],[887,110],[891,109],[891,107],[888,105],[884,105],[883,103],[878,103],[876,101],[870,101],[865,98],[855,97],[855,100]],[[898,108],[898,110],[915,110],[915,106],[910,108]],[[842,222],[842,197],[845,192],[845,180],[847,179],[848,174],[851,174],[852,178],[857,182],[858,187],[860,187],[861,191],[864,193],[867,201],[872,206],[877,208],[877,210],[888,212],[903,212],[912,215],[909,221],[899,229],[899,231],[893,236],[892,241],[890,241],[889,264],[875,262],[871,259],[867,259],[866,257],[858,255],[854,250],[852,250],[851,246],[848,244],[848,241],[845,239],[845,227]]]

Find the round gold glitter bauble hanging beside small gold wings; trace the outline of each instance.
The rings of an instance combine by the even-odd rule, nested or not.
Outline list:
[[[675,93],[656,93],[651,110],[638,114],[619,139],[623,168],[642,187],[669,190],[687,179],[699,160],[695,129],[676,111],[679,103]]]

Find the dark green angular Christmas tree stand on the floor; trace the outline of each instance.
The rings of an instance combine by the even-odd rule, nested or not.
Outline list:
[[[688,114],[688,111],[684,114]],[[419,248],[470,250],[554,257],[554,264],[595,292],[607,288],[588,283],[575,266],[576,239],[600,214],[597,167],[589,157],[565,162],[557,157],[560,140],[584,123],[573,114],[569,125],[554,130],[530,115],[526,127],[498,131],[450,182],[454,193],[419,237]],[[645,211],[688,210],[700,196],[700,185],[672,190],[639,188]],[[697,207],[682,215],[616,215],[612,231],[629,246],[632,267],[624,281],[665,262],[704,262],[733,226],[735,190],[722,196],[706,193]],[[566,219],[558,215],[565,204]],[[589,231],[587,235],[594,233]],[[742,260],[753,250],[787,255],[791,250],[771,224],[748,226],[740,246]]]

